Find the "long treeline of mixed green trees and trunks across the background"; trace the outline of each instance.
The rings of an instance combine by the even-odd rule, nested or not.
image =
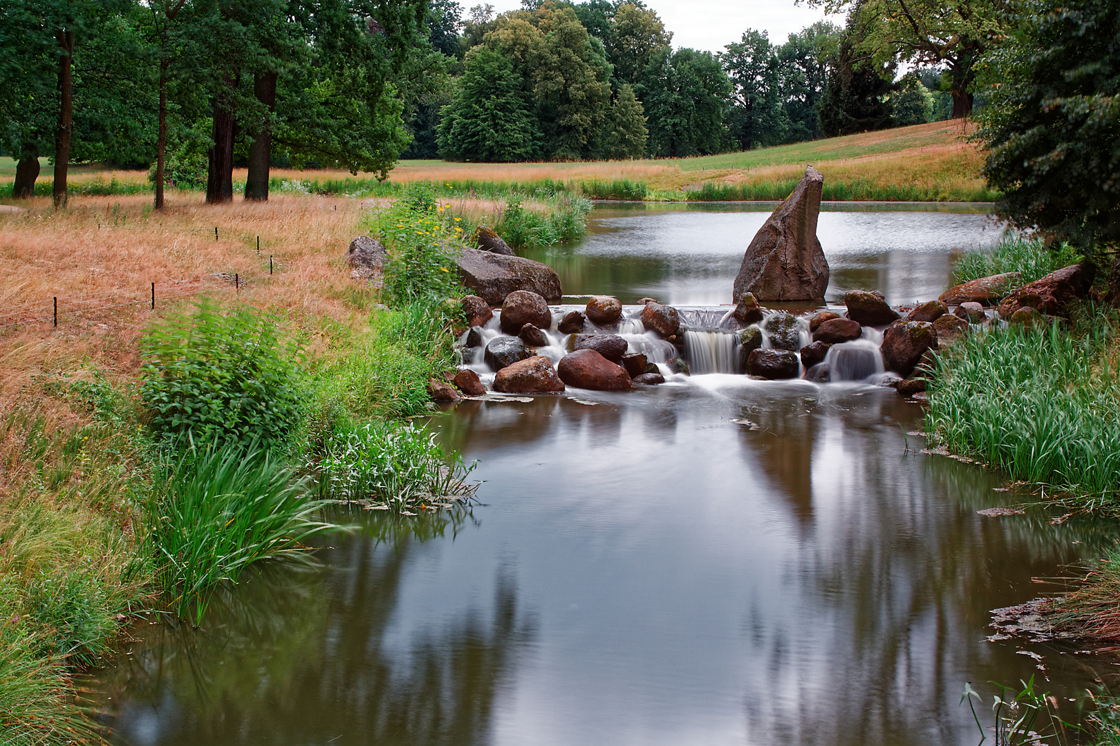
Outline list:
[[[685,157],[967,111],[952,60],[883,57],[870,0],[846,28],[748,30],[717,54],[673,49],[641,0],[523,2],[0,0],[13,195],[35,193],[40,157],[58,206],[68,164],[96,161],[150,167],[160,207],[165,185],[232,199],[235,167],[267,199],[277,166]],[[917,72],[896,82],[902,59]]]

